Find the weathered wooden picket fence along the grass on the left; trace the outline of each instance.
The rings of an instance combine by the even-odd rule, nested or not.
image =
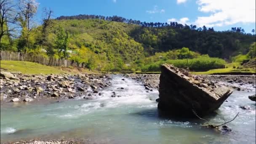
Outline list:
[[[5,61],[31,61],[48,66],[61,67],[85,67],[85,63],[78,64],[75,61],[67,59],[48,58],[42,55],[32,55],[29,53],[20,53],[12,51],[0,51],[0,60]]]

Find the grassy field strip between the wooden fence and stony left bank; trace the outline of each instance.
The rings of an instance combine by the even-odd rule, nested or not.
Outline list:
[[[88,69],[49,67],[29,61],[0,61],[1,70],[8,72],[21,72],[23,74],[75,74],[80,72],[99,73],[97,71],[89,71]]]

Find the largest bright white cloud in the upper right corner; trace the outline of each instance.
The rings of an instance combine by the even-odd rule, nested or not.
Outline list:
[[[256,0],[197,0],[196,3],[198,11],[209,13],[209,16],[197,17],[194,24],[199,27],[256,22]]]

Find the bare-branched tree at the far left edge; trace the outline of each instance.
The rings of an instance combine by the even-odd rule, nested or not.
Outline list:
[[[0,41],[4,35],[13,36],[18,27],[16,24],[15,4],[12,0],[0,1]],[[14,36],[13,36],[14,37]]]

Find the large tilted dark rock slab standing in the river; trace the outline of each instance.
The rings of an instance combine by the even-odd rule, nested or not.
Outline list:
[[[190,76],[173,65],[161,65],[161,72],[158,108],[172,114],[206,115],[218,109],[233,91],[198,76]]]

